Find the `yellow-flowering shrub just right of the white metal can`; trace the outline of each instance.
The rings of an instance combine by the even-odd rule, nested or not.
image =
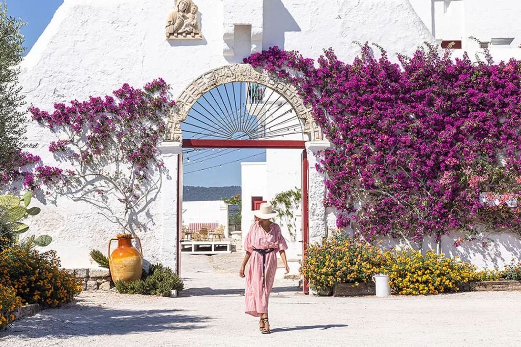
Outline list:
[[[386,252],[384,271],[391,288],[402,295],[438,294],[459,290],[458,285],[470,281],[475,267],[457,258],[427,251],[402,250]]]

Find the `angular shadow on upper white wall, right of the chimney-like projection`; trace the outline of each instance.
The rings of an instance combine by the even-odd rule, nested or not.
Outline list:
[[[263,49],[279,46],[284,49],[284,34],[301,31],[282,0],[264,0]]]

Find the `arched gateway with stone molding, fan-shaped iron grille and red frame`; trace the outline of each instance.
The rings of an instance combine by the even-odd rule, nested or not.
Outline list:
[[[260,92],[257,88],[260,88]],[[305,249],[310,239],[308,196],[313,197],[313,209],[322,211],[324,220],[324,209],[319,206],[323,196],[323,192],[318,191],[321,190],[320,185],[316,185],[316,191],[309,194],[310,163],[307,154],[308,151],[312,153],[315,149],[322,149],[313,148],[313,144],[317,144],[323,137],[311,110],[304,105],[295,86],[275,74],[258,71],[251,65],[235,64],[199,76],[176,100],[177,107],[168,120],[167,140],[182,142],[185,153],[197,147],[302,150],[302,241]],[[252,104],[255,104],[254,109]],[[247,109],[247,105],[250,109]],[[268,120],[269,117],[272,120]],[[191,126],[190,131],[187,130],[187,125]],[[190,136],[183,138],[183,132]],[[242,136],[237,135],[238,133]],[[299,134],[300,136],[295,136]],[[181,215],[182,156],[179,156],[178,165],[178,215]],[[316,217],[314,216],[315,222]],[[320,216],[318,217],[320,220]],[[178,240],[181,236],[181,220],[178,219]],[[180,272],[180,243],[177,249]],[[304,289],[307,290],[306,286]]]

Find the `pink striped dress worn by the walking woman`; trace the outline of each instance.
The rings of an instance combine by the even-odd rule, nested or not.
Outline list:
[[[268,312],[268,299],[273,288],[275,272],[277,271],[277,252],[288,249],[286,240],[282,237],[280,227],[271,223],[269,233],[258,222],[250,227],[250,232],[244,240],[244,248],[251,253],[250,267],[246,272],[246,313],[260,317]],[[265,277],[262,275],[262,255],[253,249],[270,249],[274,251],[266,254]]]

